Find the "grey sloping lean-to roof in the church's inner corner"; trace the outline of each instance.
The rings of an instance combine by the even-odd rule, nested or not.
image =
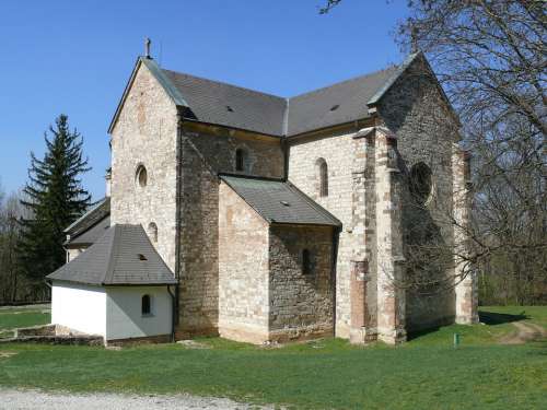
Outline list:
[[[220,177],[269,223],[341,225],[333,214],[289,181],[235,175]]]

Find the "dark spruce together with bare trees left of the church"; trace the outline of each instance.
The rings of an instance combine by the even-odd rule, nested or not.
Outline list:
[[[0,304],[50,298],[45,277],[65,263],[63,230],[91,204],[83,139],[66,115],[44,142],[43,159],[31,153],[25,187],[10,195],[0,187]]]

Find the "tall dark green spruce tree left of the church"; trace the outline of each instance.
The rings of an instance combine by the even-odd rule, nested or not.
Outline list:
[[[44,290],[44,277],[65,263],[63,230],[91,204],[91,196],[80,179],[91,169],[82,154],[82,137],[75,129],[70,131],[68,117],[62,114],[49,132],[51,139],[44,133],[44,159],[31,153],[30,181],[21,201],[31,216],[22,220],[18,254],[23,273],[34,283],[35,291]]]

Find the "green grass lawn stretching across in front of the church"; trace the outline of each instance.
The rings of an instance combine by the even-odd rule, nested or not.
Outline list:
[[[190,393],[304,409],[545,409],[547,343],[500,345],[510,320],[547,326],[546,307],[482,308],[488,325],[447,326],[406,344],[339,339],[263,349],[0,344],[0,385],[71,391]],[[462,345],[452,345],[454,332]]]

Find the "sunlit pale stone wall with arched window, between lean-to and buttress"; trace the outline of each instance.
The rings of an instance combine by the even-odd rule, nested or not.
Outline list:
[[[354,251],[352,225],[353,132],[289,140],[289,180],[342,223],[336,267],[336,335],[349,338],[350,261]],[[328,166],[328,196],[318,195],[316,162]]]

